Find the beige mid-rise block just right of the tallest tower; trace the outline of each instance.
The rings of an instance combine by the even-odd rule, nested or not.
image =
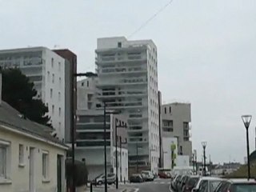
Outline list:
[[[170,103],[162,105],[162,137],[177,138],[178,154],[192,158],[190,141],[191,106],[190,103]]]

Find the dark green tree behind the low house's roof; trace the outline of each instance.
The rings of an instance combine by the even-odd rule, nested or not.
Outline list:
[[[41,99],[34,98],[36,95],[34,83],[21,70],[2,70],[2,100],[31,121],[50,126],[50,117],[46,115],[48,107]]]

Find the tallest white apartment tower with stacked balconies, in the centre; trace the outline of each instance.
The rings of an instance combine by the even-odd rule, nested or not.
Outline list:
[[[158,57],[152,40],[98,38],[98,99],[128,118],[130,173],[158,172]],[[138,150],[138,156],[137,156]]]

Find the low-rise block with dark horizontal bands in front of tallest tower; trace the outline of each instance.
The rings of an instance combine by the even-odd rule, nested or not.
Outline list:
[[[78,110],[75,158],[86,161],[89,179],[104,173],[104,116],[102,110]],[[115,131],[117,131],[118,179],[128,180],[127,118],[106,114],[107,173],[116,173]],[[122,127],[121,127],[122,126]],[[122,163],[120,163],[122,162]]]

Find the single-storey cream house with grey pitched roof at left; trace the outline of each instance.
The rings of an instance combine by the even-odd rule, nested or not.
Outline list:
[[[0,78],[0,88],[2,78]],[[0,89],[1,93],[1,89]],[[19,114],[0,94],[0,191],[64,192],[68,149],[50,128]]]

